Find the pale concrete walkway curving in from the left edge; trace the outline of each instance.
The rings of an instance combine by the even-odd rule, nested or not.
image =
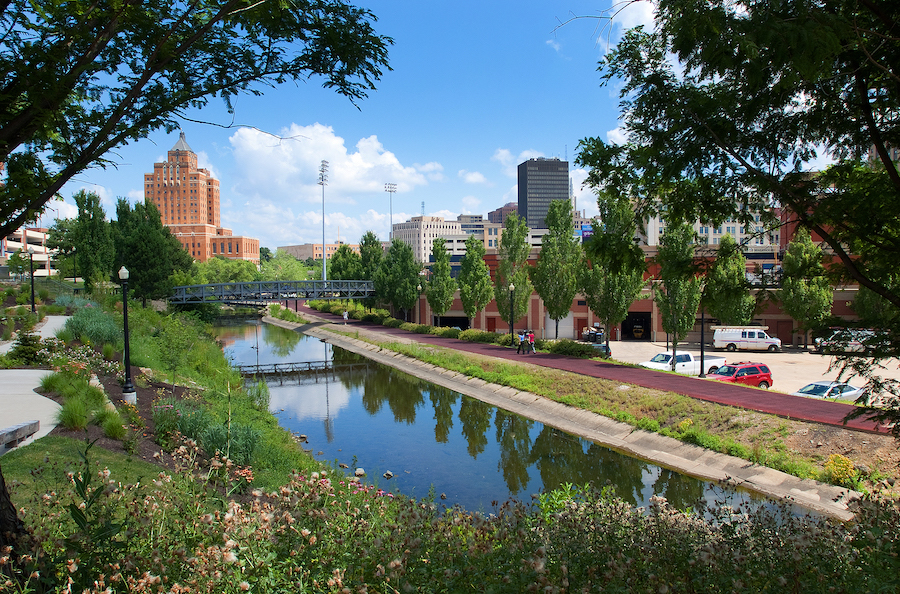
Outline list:
[[[67,316],[46,316],[38,324],[37,333],[42,339],[52,338],[67,319]],[[0,353],[9,352],[13,342],[0,344]],[[0,429],[26,421],[40,423],[38,432],[19,445],[31,443],[56,427],[59,404],[35,392],[41,378],[50,373],[47,369],[0,369]]]

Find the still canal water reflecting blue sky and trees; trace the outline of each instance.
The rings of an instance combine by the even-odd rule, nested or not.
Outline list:
[[[324,362],[331,370],[268,381],[270,409],[325,463],[362,468],[378,487],[435,503],[492,511],[510,498],[566,483],[611,485],[635,506],[665,497],[678,509],[698,502],[762,502],[508,413],[361,355],[267,324],[216,328],[236,365]],[[390,473],[391,478],[385,478]]]

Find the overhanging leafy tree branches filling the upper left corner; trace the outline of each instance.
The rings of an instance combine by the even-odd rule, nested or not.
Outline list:
[[[41,212],[108,152],[176,116],[261,86],[318,77],[351,101],[375,88],[392,40],[343,0],[0,4],[0,234]],[[114,73],[114,75],[111,75]]]

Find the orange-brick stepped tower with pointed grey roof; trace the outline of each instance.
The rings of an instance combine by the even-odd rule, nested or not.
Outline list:
[[[162,223],[198,262],[215,256],[259,265],[259,240],[235,236],[221,226],[219,180],[197,167],[197,154],[182,132],[165,163],[144,174],[144,197],[159,209]]]

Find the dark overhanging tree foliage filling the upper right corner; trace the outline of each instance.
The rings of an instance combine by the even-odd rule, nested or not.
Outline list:
[[[635,197],[642,219],[749,224],[778,205],[827,244],[833,280],[900,310],[900,4],[654,6],[654,30],[628,31],[601,61],[627,141],[583,140],[588,179]],[[835,165],[817,172],[822,155]],[[900,355],[900,320],[885,330],[885,356]],[[900,388],[869,377],[900,421]]]

